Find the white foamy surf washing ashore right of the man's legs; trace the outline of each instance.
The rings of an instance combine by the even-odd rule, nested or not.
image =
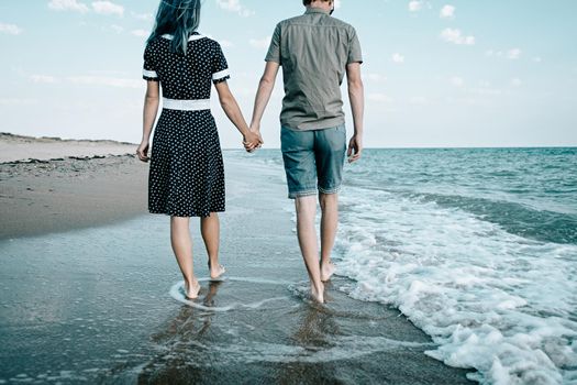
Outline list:
[[[337,274],[392,305],[482,384],[577,383],[577,246],[457,208],[364,188],[342,196]]]

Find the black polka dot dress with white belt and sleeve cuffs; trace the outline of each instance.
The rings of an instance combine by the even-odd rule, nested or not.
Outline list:
[[[224,211],[224,167],[210,112],[212,82],[229,69],[215,41],[193,33],[187,54],[171,52],[170,35],[144,51],[143,78],[160,81],[163,110],[156,124],[148,174],[148,211],[208,217]]]

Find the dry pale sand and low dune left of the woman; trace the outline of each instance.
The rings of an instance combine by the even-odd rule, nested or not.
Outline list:
[[[0,240],[146,212],[148,167],[134,157],[135,144],[0,133],[0,148],[10,150],[0,152]]]

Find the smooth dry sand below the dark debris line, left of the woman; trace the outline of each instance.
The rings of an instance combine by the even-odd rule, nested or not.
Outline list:
[[[0,240],[147,213],[148,167],[133,155],[0,164]]]

